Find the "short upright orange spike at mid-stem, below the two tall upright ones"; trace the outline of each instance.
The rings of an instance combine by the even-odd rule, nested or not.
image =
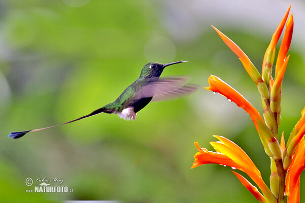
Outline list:
[[[273,83],[271,89],[271,96],[270,96],[270,108],[273,113],[278,112],[280,113],[281,110],[281,100],[282,100],[282,82],[284,78],[284,74],[286,71],[286,67],[288,64],[289,56],[286,58],[283,67],[281,68],[278,76],[276,77],[275,83]]]

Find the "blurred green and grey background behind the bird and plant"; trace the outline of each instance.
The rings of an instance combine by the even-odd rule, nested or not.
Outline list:
[[[162,76],[188,75],[205,87],[208,76],[217,75],[262,114],[254,83],[210,25],[261,70],[271,35],[290,3],[1,1],[0,198],[256,202],[231,168],[208,164],[191,170],[197,152],[193,143],[212,150],[208,142],[218,134],[244,149],[269,184],[269,158],[250,117],[204,88],[178,100],[150,103],[136,121],[101,114],[18,140],[7,136],[63,123],[110,103],[150,61],[189,60],[168,67]],[[305,5],[292,3],[295,29],[280,126],[286,140],[305,104]],[[25,185],[27,177],[63,179],[74,190],[27,193],[33,189]],[[300,188],[304,201],[304,176]]]

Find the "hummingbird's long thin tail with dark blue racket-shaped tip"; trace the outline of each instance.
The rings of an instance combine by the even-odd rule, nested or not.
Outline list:
[[[9,138],[13,138],[13,139],[17,139],[17,138],[21,138],[22,136],[24,136],[24,134],[28,133],[28,132],[35,132],[35,131],[39,131],[39,130],[43,130],[43,129],[48,129],[48,128],[51,128],[51,127],[56,127],[56,126],[59,126],[59,125],[65,125],[65,124],[68,124],[68,123],[72,123],[72,122],[75,122],[75,121],[78,121],[78,120],[81,120],[83,118],[87,118],[87,117],[90,117],[90,116],[94,116],[94,115],[97,115],[97,114],[100,114],[100,113],[112,113],[111,110],[109,108],[107,108],[109,105],[106,105],[100,109],[97,109],[95,110],[94,112],[88,114],[88,115],[85,115],[85,116],[82,116],[82,117],[79,117],[75,120],[72,120],[72,121],[69,121],[69,122],[66,122],[66,123],[62,123],[62,124],[58,124],[58,125],[53,125],[53,126],[49,126],[49,127],[44,127],[44,128],[39,128],[39,129],[34,129],[34,130],[27,130],[27,131],[20,131],[20,132],[11,132],[9,134]]]

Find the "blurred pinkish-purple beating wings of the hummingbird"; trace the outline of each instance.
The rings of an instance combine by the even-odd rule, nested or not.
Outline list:
[[[190,77],[173,76],[150,78],[143,81],[145,84],[136,93],[136,99],[153,97],[152,101],[173,99],[185,96],[198,90],[199,85],[187,84]]]

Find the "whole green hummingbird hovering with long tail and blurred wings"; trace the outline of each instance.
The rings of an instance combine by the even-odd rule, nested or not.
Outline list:
[[[118,114],[120,118],[124,118],[125,120],[135,120],[137,117],[137,112],[143,109],[151,100],[159,101],[172,97],[183,96],[193,93],[199,88],[199,85],[187,84],[190,79],[187,76],[160,78],[160,75],[165,67],[182,62],[188,61],[180,60],[166,64],[158,62],[146,63],[142,68],[140,77],[129,85],[112,103],[109,103],[88,115],[79,117],[66,123],[33,130],[11,132],[8,137],[13,139],[21,138],[28,132],[65,125],[101,113]]]

